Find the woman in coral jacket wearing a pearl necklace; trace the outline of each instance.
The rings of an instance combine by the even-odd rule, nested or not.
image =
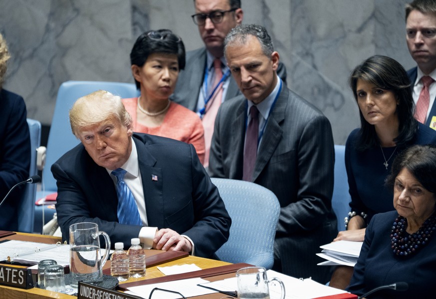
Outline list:
[[[172,102],[180,69],[185,67],[185,47],[179,36],[160,29],[142,33],[130,52],[132,74],[141,95],[124,98],[134,130],[191,143],[204,162],[204,130],[191,110]]]

